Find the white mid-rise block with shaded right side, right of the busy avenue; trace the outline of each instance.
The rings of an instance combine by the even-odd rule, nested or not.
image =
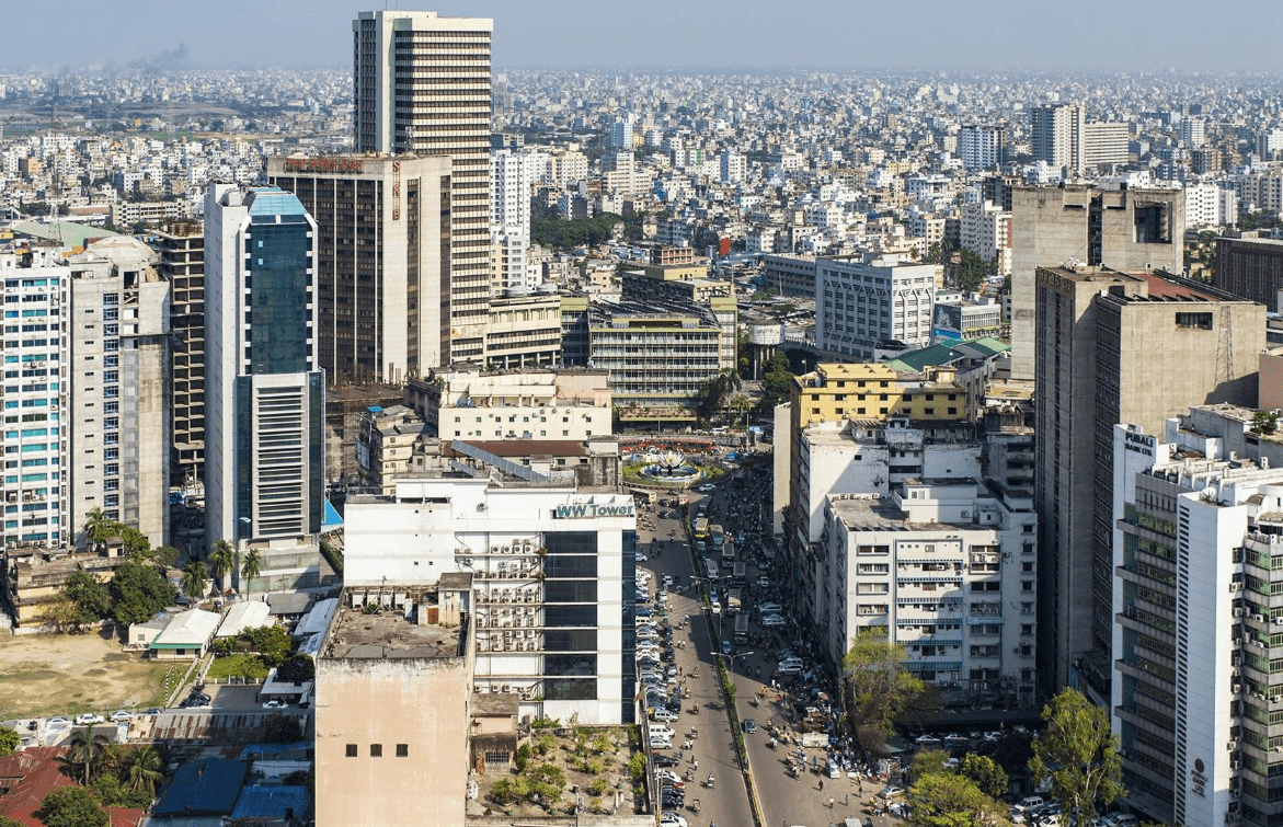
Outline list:
[[[1035,699],[1037,518],[1028,492],[975,480],[831,495],[817,628],[833,663],[854,637],[908,651],[948,703]]]

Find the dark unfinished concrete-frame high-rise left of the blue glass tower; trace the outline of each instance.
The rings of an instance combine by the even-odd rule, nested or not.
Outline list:
[[[169,282],[169,483],[195,483],[205,476],[204,228],[168,222],[153,238],[160,278]]]

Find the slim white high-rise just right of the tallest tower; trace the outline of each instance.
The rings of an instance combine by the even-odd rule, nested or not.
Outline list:
[[[531,158],[520,150],[490,150],[490,285],[495,291],[522,290],[531,283],[530,251]]]

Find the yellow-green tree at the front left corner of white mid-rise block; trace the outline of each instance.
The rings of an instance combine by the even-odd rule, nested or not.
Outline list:
[[[926,685],[906,668],[908,653],[876,633],[857,635],[842,659],[847,705],[856,731],[872,727],[881,736],[896,732],[896,721],[926,692]]]

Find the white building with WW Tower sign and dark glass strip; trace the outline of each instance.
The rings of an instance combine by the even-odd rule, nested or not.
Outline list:
[[[631,495],[414,478],[345,517],[349,587],[471,576],[468,689],[518,695],[521,715],[633,722]]]

